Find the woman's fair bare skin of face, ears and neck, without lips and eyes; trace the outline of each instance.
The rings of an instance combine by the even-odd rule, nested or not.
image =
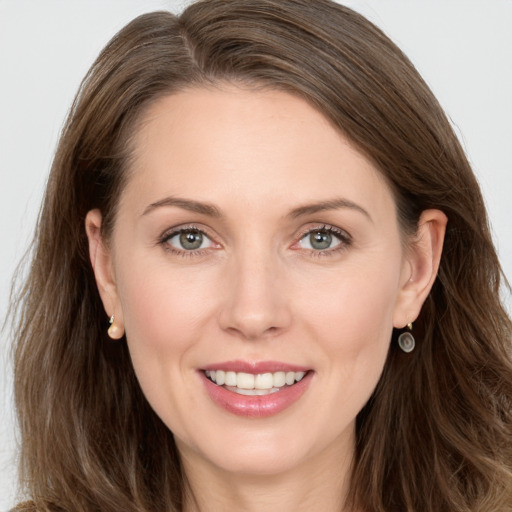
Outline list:
[[[393,327],[414,321],[430,291],[446,217],[424,212],[404,243],[379,171],[283,92],[189,89],[140,126],[111,240],[97,210],[86,230],[114,337],[126,332],[141,387],[175,435],[185,510],[341,510],[356,415]],[[169,197],[220,216],[155,205]],[[339,199],[348,206],[291,214]],[[180,227],[205,232],[199,251],[165,239]],[[312,248],[309,232],[325,227],[340,238]],[[314,373],[284,411],[245,418],[213,403],[199,377],[230,360]]]

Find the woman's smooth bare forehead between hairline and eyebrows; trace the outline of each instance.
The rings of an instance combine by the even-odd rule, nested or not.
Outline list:
[[[195,88],[159,99],[138,126],[130,174],[134,202],[167,194],[246,208],[333,196],[393,203],[380,172],[329,120],[275,90]]]

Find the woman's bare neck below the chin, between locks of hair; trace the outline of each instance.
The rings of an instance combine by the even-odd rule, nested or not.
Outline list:
[[[183,453],[187,479],[183,512],[342,512],[347,496],[353,438],[328,446],[300,466],[278,474],[244,474],[199,462]]]

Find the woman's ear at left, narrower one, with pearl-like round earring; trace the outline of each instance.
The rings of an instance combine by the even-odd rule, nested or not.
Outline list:
[[[121,333],[122,336],[123,313],[117,293],[112,253],[101,235],[101,222],[102,215],[97,209],[89,211],[85,217],[85,231],[89,241],[89,258],[105,312],[109,318],[115,317],[115,329],[111,328],[109,334],[113,331]],[[117,336],[115,337],[117,338]]]

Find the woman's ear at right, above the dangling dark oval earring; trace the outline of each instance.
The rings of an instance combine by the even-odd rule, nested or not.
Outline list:
[[[425,210],[406,250],[393,326],[414,322],[437,276],[448,219],[440,210]]]

